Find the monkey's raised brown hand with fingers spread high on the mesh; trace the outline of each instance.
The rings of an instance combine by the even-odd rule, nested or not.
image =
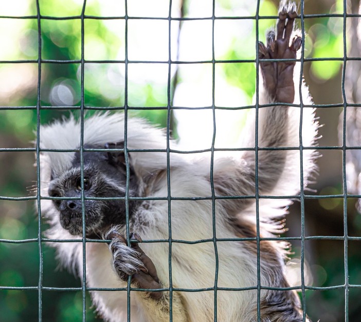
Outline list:
[[[267,33],[267,46],[259,43],[260,59],[296,59],[296,52],[301,48],[302,38],[294,35],[294,21],[297,17],[296,3],[281,0],[278,11],[277,30]],[[292,40],[291,40],[292,37]],[[295,61],[261,62],[264,86],[269,97],[279,103],[293,103],[295,85],[293,70]]]

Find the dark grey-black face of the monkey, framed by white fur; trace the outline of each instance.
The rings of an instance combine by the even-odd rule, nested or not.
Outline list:
[[[84,146],[85,148],[104,148],[102,146]],[[123,148],[119,144],[107,144],[106,148]],[[87,198],[125,197],[127,167],[123,152],[83,153],[83,188],[85,230],[87,237],[101,236],[111,225],[125,223],[126,204],[124,199],[92,200]],[[80,153],[75,154],[73,167],[49,185],[50,197],[71,197],[79,199],[53,200],[60,212],[62,227],[73,235],[82,234],[81,200],[81,161]],[[133,168],[129,165],[129,196],[136,196],[137,180]],[[129,215],[135,209],[135,202],[129,201]]]

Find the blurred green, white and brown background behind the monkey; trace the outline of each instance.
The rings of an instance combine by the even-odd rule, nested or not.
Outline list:
[[[304,63],[320,128],[319,176],[305,199],[305,235],[338,236],[338,239],[308,239],[304,244],[305,281],[308,286],[329,287],[305,292],[306,311],[312,320],[359,321],[361,314],[361,242],[342,236],[361,237],[358,150],[347,152],[347,181],[342,177],[342,145],[338,139],[346,120],[348,145],[359,146],[361,120],[357,103],[361,93],[357,82],[361,66],[357,60],[342,61],[345,53],[360,57],[357,15],[358,0],[304,1],[304,57],[325,59]],[[42,16],[37,20],[37,4]],[[40,122],[47,123],[69,111],[79,112],[82,77],[83,0],[12,0],[0,6],[0,321],[37,321],[38,290],[9,287],[37,287],[40,263],[37,238],[38,218],[34,200],[36,171],[32,148],[36,139],[37,104]],[[247,109],[256,91],[257,1],[215,0],[214,104],[216,146],[237,147],[246,122]],[[99,109],[123,109],[131,115],[166,126],[167,105],[176,107],[170,115],[173,136],[184,150],[209,148],[213,136],[212,110],[212,20],[211,0],[88,0],[84,19],[84,105],[92,113]],[[260,0],[260,16],[277,15],[278,1]],[[300,12],[300,8],[298,10]],[[324,15],[330,14],[330,16]],[[171,16],[172,20],[168,20]],[[65,18],[64,18],[65,17]],[[148,18],[144,18],[148,17]],[[156,18],[156,19],[155,19]],[[179,18],[186,18],[181,20]],[[258,22],[259,40],[274,18]],[[298,20],[298,27],[301,22]],[[346,28],[345,28],[346,26]],[[39,28],[41,50],[39,50]],[[345,28],[345,30],[344,30]],[[126,39],[125,31],[128,37]],[[346,48],[344,45],[347,44]],[[170,50],[169,50],[170,45]],[[39,68],[38,60],[42,60]],[[125,68],[125,59],[129,60]],[[171,66],[168,61],[171,60]],[[178,62],[178,63],[177,63]],[[40,74],[39,74],[40,73]],[[127,75],[127,82],[125,77]],[[344,78],[342,78],[344,77]],[[40,81],[40,86],[39,84]],[[342,80],[346,90],[342,91]],[[126,86],[127,85],[127,86]],[[125,93],[127,88],[127,93]],[[169,90],[168,90],[169,89]],[[39,95],[39,100],[38,100]],[[344,115],[343,103],[348,107]],[[323,106],[323,104],[331,104]],[[183,109],[182,109],[183,107]],[[187,109],[184,109],[186,107]],[[340,118],[341,115],[341,118]],[[297,125],[295,125],[297,126]],[[35,132],[34,132],[35,131]],[[342,138],[342,135],[341,135]],[[332,148],[333,147],[333,148]],[[342,198],[345,186],[352,196]],[[337,195],[338,198],[331,197]],[[290,209],[286,233],[301,234],[300,203]],[[42,224],[42,231],[46,223]],[[29,241],[30,239],[30,241]],[[14,241],[29,242],[14,242]],[[287,269],[294,285],[300,284],[300,244],[293,242],[292,262]],[[80,287],[73,275],[57,269],[52,248],[42,244],[43,286]],[[347,270],[347,271],[345,271]],[[351,284],[345,302],[345,288]],[[43,321],[81,321],[82,293],[43,291]],[[86,320],[100,320],[87,298]]]

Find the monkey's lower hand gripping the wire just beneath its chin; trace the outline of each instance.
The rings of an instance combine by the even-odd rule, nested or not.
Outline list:
[[[130,238],[142,242],[138,234],[132,233]],[[108,232],[105,239],[112,240],[109,248],[118,276],[124,281],[128,280],[128,276],[132,276],[132,283],[141,289],[150,290],[150,296],[159,299],[163,293],[151,291],[162,288],[157,271],[152,260],[141,250],[138,243],[132,243],[131,247],[128,247],[124,236],[115,230]]]

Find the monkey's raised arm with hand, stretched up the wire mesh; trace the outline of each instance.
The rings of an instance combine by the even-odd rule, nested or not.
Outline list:
[[[296,16],[294,3],[280,6],[276,32],[268,32],[266,46],[259,43],[260,59],[296,59],[296,52],[302,43],[301,37],[293,31]],[[295,61],[260,62],[259,104],[285,105],[259,108],[257,164],[254,150],[244,151],[237,160],[229,162],[220,159],[214,164],[214,186],[220,195],[255,195],[256,166],[260,195],[292,195],[300,190],[300,155],[296,150],[300,145],[300,108],[286,106],[299,103],[300,73],[294,71],[295,65]],[[311,103],[306,87],[303,84],[301,87],[304,92],[303,102]],[[313,109],[303,109],[302,121],[302,143],[304,146],[312,146],[317,132]],[[255,133],[255,127],[247,130],[246,134]],[[255,141],[253,143],[255,144]],[[294,149],[277,149],[282,147]],[[312,151],[304,151],[304,184],[313,171],[313,166],[308,168],[313,164],[313,158]],[[231,213],[235,213],[244,209],[250,202],[250,199],[232,199],[224,204]]]

